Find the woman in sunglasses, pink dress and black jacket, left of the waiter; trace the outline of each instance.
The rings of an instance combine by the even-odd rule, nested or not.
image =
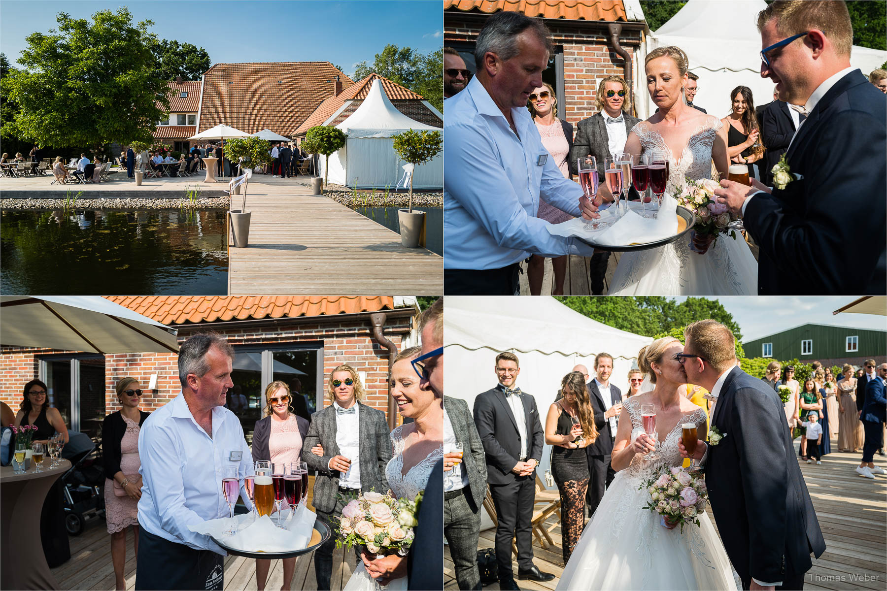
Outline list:
[[[135,377],[124,377],[114,388],[121,409],[102,423],[102,460],[105,463],[105,521],[111,534],[111,564],[118,589],[126,588],[126,530],[132,527],[133,548],[138,555],[138,500],[142,477],[138,470],[138,432],[148,413],[138,408],[143,395]]]

